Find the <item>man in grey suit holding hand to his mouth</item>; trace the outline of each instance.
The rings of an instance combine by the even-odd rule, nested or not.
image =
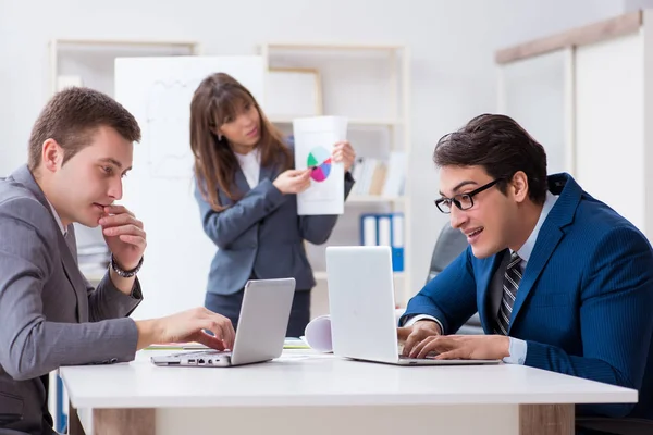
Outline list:
[[[139,139],[118,102],[70,88],[36,121],[28,164],[0,178],[0,434],[53,433],[48,374],[61,365],[127,362],[152,343],[233,345],[231,322],[205,308],[127,318],[143,300],[146,234],[114,201]],[[77,268],[74,222],[101,225],[112,253],[95,289]]]

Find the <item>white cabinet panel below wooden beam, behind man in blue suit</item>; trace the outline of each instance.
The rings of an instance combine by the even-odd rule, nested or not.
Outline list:
[[[644,160],[644,40],[636,33],[576,51],[576,179],[649,237]],[[606,64],[606,59],[609,63]],[[615,83],[620,86],[612,86]],[[631,108],[631,110],[625,110]],[[608,152],[618,144],[618,152]],[[609,173],[619,174],[615,183]],[[625,187],[628,186],[628,187]]]

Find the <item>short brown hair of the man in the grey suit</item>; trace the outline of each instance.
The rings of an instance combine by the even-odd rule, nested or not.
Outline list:
[[[52,97],[34,124],[27,164],[34,171],[41,161],[42,146],[54,139],[63,148],[63,163],[90,145],[99,127],[115,129],[125,140],[139,141],[136,119],[118,101],[98,90],[71,87]]]

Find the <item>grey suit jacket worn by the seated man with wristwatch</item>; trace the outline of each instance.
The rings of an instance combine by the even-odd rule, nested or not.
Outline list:
[[[131,361],[140,302],[108,275],[94,289],[26,166],[0,178],[0,412],[22,414],[7,430],[51,434],[48,373],[61,365]],[[0,428],[0,434],[2,433]]]

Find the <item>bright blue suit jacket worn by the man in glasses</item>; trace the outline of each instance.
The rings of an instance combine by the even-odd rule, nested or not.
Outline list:
[[[583,405],[581,415],[653,419],[653,251],[626,219],[567,174],[549,177],[559,195],[523,272],[508,335],[527,343],[525,364],[639,390],[639,402]],[[504,252],[477,259],[468,248],[408,303],[444,333],[478,309],[492,334],[489,286]]]

